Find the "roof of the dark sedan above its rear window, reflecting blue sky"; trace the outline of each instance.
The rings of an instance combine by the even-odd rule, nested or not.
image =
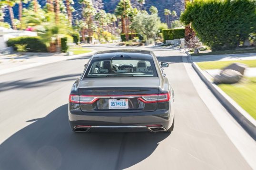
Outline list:
[[[122,57],[121,57],[122,56]],[[151,51],[139,49],[122,49],[99,51],[92,56],[92,60],[112,59],[112,58],[131,58],[131,59],[152,59]]]

